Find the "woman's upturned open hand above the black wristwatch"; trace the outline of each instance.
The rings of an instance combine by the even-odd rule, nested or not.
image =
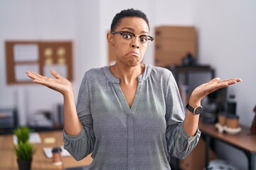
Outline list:
[[[219,77],[208,81],[206,84],[202,84],[201,86],[196,87],[191,94],[191,98],[189,99],[189,103],[194,106],[200,105],[200,101],[207,96],[208,94],[216,91],[220,88],[230,86],[232,84],[236,84],[242,81],[238,78],[233,79],[223,79],[220,80]]]

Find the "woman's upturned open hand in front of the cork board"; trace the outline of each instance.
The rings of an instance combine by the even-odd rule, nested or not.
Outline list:
[[[63,96],[67,95],[69,92],[73,93],[73,86],[71,82],[64,77],[61,77],[60,74],[55,72],[53,69],[50,70],[50,74],[52,74],[55,79],[44,77],[41,74],[30,71],[27,71],[26,74],[28,77],[33,79],[33,82],[42,84],[43,86],[48,86],[48,88],[60,92],[60,94],[63,94]]]

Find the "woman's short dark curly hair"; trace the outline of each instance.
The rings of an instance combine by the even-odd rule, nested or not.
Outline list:
[[[148,27],[149,27],[149,20],[148,18],[146,18],[146,14],[143,13],[140,10],[136,10],[134,8],[129,8],[129,9],[125,9],[122,10],[121,12],[117,13],[111,23],[111,27],[110,30],[111,32],[114,31],[114,29],[117,27],[117,25],[120,23],[120,21],[122,20],[122,18],[127,17],[127,16],[135,16],[135,17],[139,17],[144,19],[144,21],[146,21]]]

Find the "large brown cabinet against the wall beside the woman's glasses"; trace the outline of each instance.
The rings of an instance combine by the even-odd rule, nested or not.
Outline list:
[[[193,26],[159,26],[155,28],[155,65],[181,65],[188,52],[196,57],[196,28]]]

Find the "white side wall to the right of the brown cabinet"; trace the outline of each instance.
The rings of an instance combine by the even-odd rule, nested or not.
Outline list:
[[[198,28],[199,57],[210,63],[218,77],[240,77],[241,84],[230,86],[235,94],[240,124],[250,127],[256,105],[256,1],[203,1],[193,4],[193,23]],[[242,152],[217,143],[220,158],[247,169]]]

